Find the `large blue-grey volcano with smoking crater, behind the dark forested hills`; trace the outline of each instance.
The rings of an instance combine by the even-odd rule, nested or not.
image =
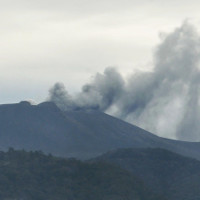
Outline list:
[[[0,105],[0,149],[87,159],[127,147],[161,147],[200,159],[200,143],[164,139],[105,113],[61,111],[54,103]]]

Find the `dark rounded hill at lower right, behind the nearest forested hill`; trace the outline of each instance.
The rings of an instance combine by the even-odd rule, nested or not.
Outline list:
[[[164,149],[119,149],[96,159],[137,175],[168,200],[200,199],[200,161]]]

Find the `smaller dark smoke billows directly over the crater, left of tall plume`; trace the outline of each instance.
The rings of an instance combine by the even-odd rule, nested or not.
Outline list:
[[[91,83],[85,84],[76,96],[70,96],[62,83],[49,90],[49,100],[63,110],[95,109],[106,111],[124,92],[124,80],[114,68],[97,73]]]

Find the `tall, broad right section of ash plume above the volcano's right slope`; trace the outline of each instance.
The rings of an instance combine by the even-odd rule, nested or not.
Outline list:
[[[129,81],[121,117],[161,136],[199,140],[199,41],[187,22],[167,35],[157,47],[153,72]]]

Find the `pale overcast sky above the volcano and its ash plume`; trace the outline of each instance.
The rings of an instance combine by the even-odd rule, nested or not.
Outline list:
[[[55,82],[77,92],[96,72],[150,70],[159,36],[198,0],[0,0],[0,103],[43,101]]]

